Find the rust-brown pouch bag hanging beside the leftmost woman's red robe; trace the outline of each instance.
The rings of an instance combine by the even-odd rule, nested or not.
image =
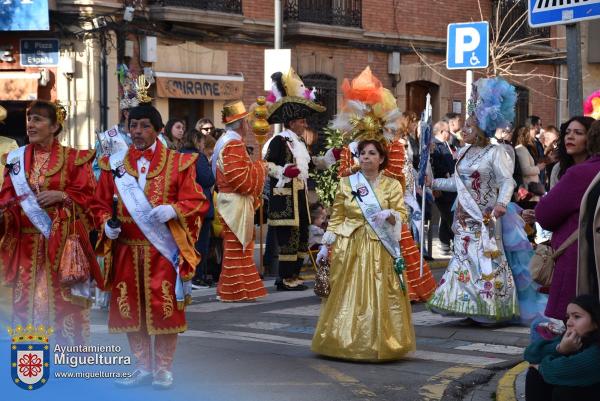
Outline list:
[[[75,227],[77,221],[75,206],[73,206],[71,217],[73,218],[73,232],[69,231],[58,269],[59,282],[66,287],[84,282],[90,278],[90,263]],[[71,224],[69,223],[68,226],[70,228]]]

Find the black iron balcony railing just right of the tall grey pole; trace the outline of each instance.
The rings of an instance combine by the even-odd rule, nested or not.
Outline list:
[[[361,0],[285,0],[287,21],[362,27]]]

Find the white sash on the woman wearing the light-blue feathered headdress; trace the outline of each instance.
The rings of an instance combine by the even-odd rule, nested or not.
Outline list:
[[[463,157],[466,153],[467,152],[463,153]],[[493,272],[492,258],[498,253],[498,246],[496,245],[496,239],[490,237],[487,225],[483,221],[483,213],[481,212],[479,205],[475,202],[464,182],[460,179],[460,174],[458,173],[459,162],[460,160],[456,163],[456,171],[454,173],[458,202],[473,219],[481,222],[481,237],[477,253],[479,255],[481,272],[485,275],[489,275]]]

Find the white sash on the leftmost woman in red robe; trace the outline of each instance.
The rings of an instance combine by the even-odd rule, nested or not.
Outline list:
[[[24,196],[20,201],[21,208],[27,215],[31,224],[37,228],[47,239],[52,231],[52,220],[48,213],[37,203],[37,199],[25,177],[25,146],[15,149],[6,158],[10,165],[10,178],[17,196]]]

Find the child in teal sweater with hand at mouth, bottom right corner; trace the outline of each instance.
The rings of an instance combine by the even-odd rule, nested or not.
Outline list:
[[[554,340],[537,340],[525,349],[531,365],[525,381],[527,401],[592,401],[600,394],[600,303],[580,295],[567,306],[567,331]]]

